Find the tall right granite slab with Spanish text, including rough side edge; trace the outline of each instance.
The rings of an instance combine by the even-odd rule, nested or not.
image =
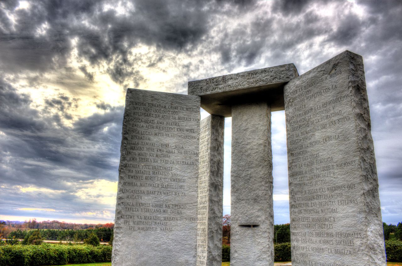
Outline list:
[[[292,265],[385,266],[363,59],[285,85]]]

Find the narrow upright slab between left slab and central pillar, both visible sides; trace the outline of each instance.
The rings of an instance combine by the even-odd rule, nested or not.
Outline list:
[[[222,264],[224,123],[210,115],[200,125],[197,266]]]

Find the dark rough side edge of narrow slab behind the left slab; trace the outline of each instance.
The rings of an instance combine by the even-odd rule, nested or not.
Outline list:
[[[211,115],[208,182],[207,265],[222,264],[222,213],[225,118]]]

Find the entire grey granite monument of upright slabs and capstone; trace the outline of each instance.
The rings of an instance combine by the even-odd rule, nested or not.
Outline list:
[[[113,266],[218,266],[224,117],[232,117],[231,265],[273,266],[271,112],[285,110],[293,266],[385,266],[363,59],[345,51],[128,89]],[[211,116],[200,123],[200,106]]]

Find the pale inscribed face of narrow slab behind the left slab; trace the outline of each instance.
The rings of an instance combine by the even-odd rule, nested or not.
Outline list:
[[[207,265],[210,117],[201,121],[197,208],[197,266]]]

